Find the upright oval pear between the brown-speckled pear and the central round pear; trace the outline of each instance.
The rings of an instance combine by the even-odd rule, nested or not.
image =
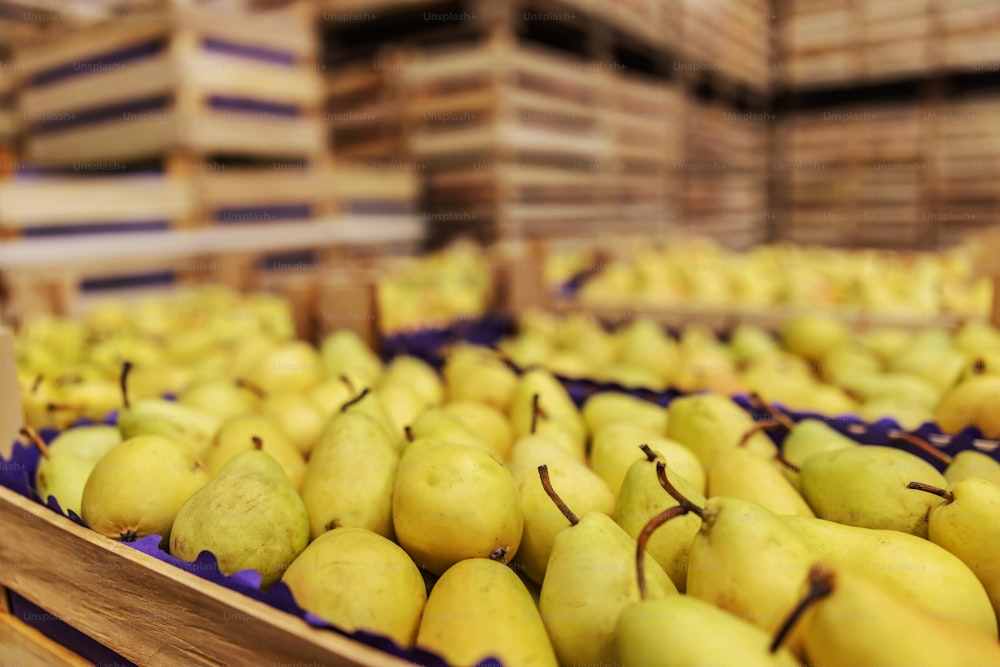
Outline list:
[[[327,424],[302,481],[312,539],[334,528],[367,528],[392,539],[392,489],[399,453],[366,414],[344,412]]]

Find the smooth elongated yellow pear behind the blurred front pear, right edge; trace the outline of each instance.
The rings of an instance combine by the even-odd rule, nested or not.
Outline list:
[[[782,516],[781,520],[799,533],[817,558],[892,589],[914,608],[997,636],[989,596],[976,575],[933,542],[898,530],[857,528],[823,519]]]

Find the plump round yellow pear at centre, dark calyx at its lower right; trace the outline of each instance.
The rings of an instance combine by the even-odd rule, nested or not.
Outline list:
[[[392,495],[400,546],[434,574],[466,558],[510,561],[524,519],[517,485],[503,462],[469,445],[413,445],[399,462]]]

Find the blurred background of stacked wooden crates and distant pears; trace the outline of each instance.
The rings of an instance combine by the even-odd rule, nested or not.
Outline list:
[[[988,317],[998,71],[995,0],[0,0],[3,315],[211,280],[313,333],[372,282],[424,288],[388,328],[584,283]]]

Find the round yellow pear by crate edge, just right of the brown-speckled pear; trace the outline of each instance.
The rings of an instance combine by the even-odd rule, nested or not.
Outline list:
[[[281,578],[306,611],[335,627],[412,646],[427,601],[420,570],[399,546],[364,528],[323,533]]]

